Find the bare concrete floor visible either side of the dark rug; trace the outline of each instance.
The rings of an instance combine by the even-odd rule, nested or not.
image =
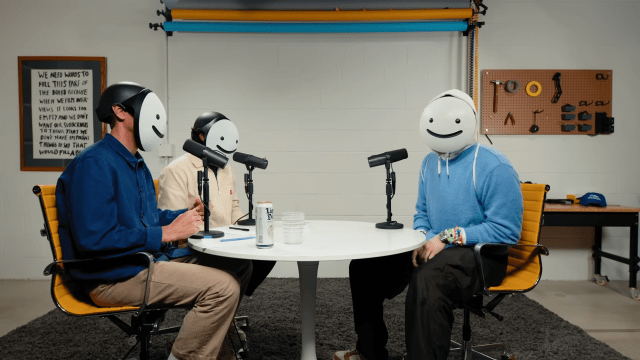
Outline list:
[[[527,295],[623,355],[640,360],[640,301],[624,281],[541,281]],[[49,281],[0,280],[0,336],[54,309]]]

